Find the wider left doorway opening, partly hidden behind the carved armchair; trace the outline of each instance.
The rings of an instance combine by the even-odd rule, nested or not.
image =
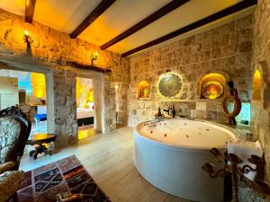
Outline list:
[[[18,105],[31,121],[31,135],[47,133],[45,75],[0,69],[0,110]]]

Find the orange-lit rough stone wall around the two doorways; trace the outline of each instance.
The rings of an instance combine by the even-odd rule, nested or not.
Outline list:
[[[24,30],[33,40],[31,47],[23,41]],[[115,128],[115,89],[113,83],[130,82],[128,58],[111,51],[102,51],[98,46],[84,40],[71,40],[67,33],[56,31],[38,22],[23,22],[23,17],[0,10],[0,56],[1,60],[31,63],[34,66],[49,66],[46,79],[53,83],[55,126],[50,130],[63,136],[66,142],[76,141],[76,68],[66,66],[67,61],[91,64],[91,54],[98,53],[94,66],[112,69],[112,74],[103,76],[103,132]],[[121,99],[125,97],[120,97]],[[123,101],[124,102],[124,101]],[[48,109],[50,110],[50,109]],[[64,144],[65,145],[65,144]]]

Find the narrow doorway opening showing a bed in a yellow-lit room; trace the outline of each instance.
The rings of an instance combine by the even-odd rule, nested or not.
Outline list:
[[[94,80],[76,77],[78,139],[94,136]]]

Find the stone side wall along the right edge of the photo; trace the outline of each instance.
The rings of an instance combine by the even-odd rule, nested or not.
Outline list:
[[[258,0],[254,26],[253,72],[263,75],[261,101],[252,101],[252,129],[264,147],[266,180],[270,181],[270,1]],[[266,201],[270,201],[267,198]]]

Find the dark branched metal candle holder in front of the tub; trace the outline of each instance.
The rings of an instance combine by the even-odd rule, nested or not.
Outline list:
[[[210,151],[211,154],[215,156],[217,162],[223,163],[224,167],[222,169],[216,170],[214,165],[210,162],[206,162],[202,166],[202,170],[209,173],[209,176],[214,178],[224,178],[227,173],[231,173],[232,179],[232,190],[233,190],[233,202],[239,202],[238,199],[238,178],[243,181],[247,187],[254,189],[262,198],[266,198],[267,195],[270,195],[270,185],[264,180],[249,180],[245,174],[250,171],[262,171],[266,165],[264,158],[258,157],[257,155],[251,155],[248,159],[248,162],[256,165],[256,169],[252,166],[245,164],[241,168],[238,168],[238,164],[243,163],[236,154],[221,154],[220,150],[217,148],[212,148]],[[225,164],[225,162],[230,162],[230,164]]]

